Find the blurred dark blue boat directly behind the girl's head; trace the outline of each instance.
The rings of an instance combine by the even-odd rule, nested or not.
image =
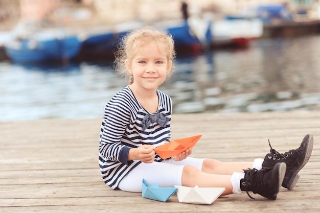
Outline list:
[[[121,24],[105,31],[90,32],[90,34],[84,36],[77,59],[85,61],[113,58],[113,51],[121,38],[131,30],[143,26],[144,23],[142,22],[129,22],[126,25]],[[171,34],[175,41],[176,51],[182,54],[199,53],[203,46],[209,45],[212,41],[210,23],[207,23],[202,31],[195,29],[194,26],[184,20],[158,22],[155,23],[155,27]]]

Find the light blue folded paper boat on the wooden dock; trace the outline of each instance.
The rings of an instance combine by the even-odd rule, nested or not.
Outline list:
[[[156,183],[150,185],[145,179],[142,180],[142,197],[166,202],[176,191],[176,187],[159,188]]]

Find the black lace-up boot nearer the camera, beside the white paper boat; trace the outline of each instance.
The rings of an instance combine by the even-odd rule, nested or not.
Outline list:
[[[286,173],[286,164],[277,163],[273,168],[264,168],[261,170],[247,169],[244,171],[244,179],[240,180],[240,189],[245,191],[252,199],[248,192],[259,194],[265,198],[276,200]]]

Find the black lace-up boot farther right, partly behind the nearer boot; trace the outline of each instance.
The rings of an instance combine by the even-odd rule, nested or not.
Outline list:
[[[286,175],[284,176],[282,186],[292,190],[296,182],[299,179],[298,172],[308,162],[312,147],[313,147],[313,136],[306,135],[300,147],[295,150],[289,150],[283,154],[280,154],[270,146],[270,154],[267,154],[262,163],[262,168],[273,168],[279,162],[285,162],[287,165]]]

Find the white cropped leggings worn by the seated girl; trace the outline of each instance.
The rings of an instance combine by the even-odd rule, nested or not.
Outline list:
[[[181,185],[182,170],[185,165],[193,165],[201,171],[204,159],[187,157],[181,161],[172,158],[163,162],[140,163],[119,183],[118,188],[127,192],[142,192],[142,179],[150,185],[157,183],[159,187]]]

